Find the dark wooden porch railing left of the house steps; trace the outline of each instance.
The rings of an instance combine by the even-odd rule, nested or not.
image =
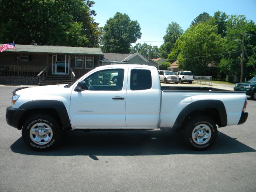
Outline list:
[[[1,76],[34,76],[42,71],[45,66],[30,65],[0,65]]]

